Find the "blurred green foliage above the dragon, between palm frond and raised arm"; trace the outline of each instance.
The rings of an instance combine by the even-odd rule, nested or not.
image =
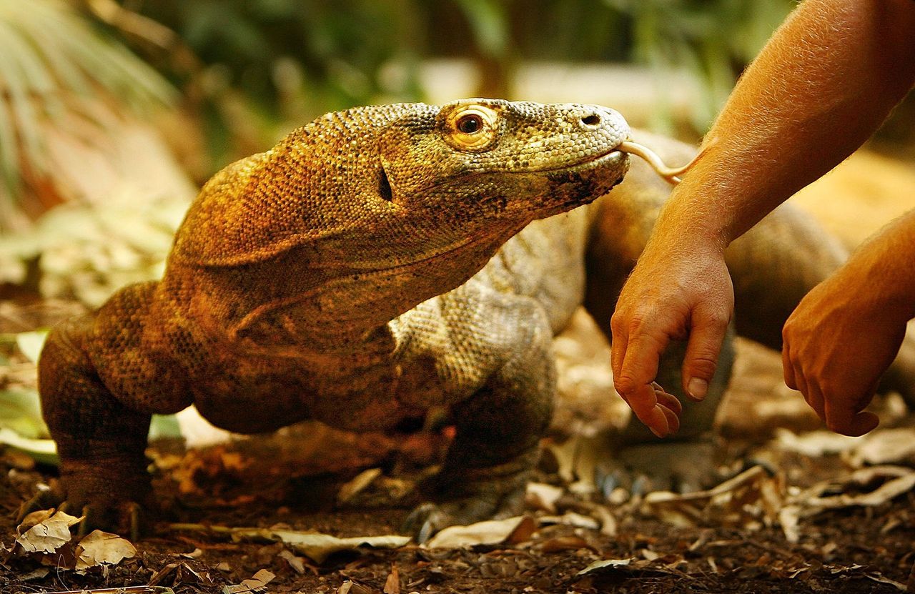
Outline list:
[[[133,0],[178,33],[202,63],[207,136],[224,163],[250,124],[264,146],[295,123],[360,103],[423,99],[421,60],[478,62],[479,94],[511,96],[521,60],[631,62],[662,77],[687,69],[709,124],[744,65],[793,0]],[[179,86],[187,80],[175,78]],[[245,106],[221,98],[240,90]],[[663,100],[663,97],[661,97]],[[663,101],[661,101],[663,103]],[[238,106],[238,102],[232,105]],[[244,152],[244,150],[242,150]],[[250,151],[248,151],[250,152]]]

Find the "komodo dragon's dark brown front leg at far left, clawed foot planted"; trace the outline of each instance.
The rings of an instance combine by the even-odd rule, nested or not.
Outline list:
[[[147,310],[155,291],[156,283],[126,286],[98,312],[65,321],[48,335],[38,385],[66,500],[41,491],[24,511],[59,505],[85,516],[81,533],[103,525],[136,538],[140,510],[155,509],[145,470],[150,419],[191,402],[183,371],[142,331],[157,326],[155,312]]]

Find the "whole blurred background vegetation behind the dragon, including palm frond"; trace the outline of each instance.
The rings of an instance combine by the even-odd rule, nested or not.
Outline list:
[[[199,184],[352,105],[605,103],[696,139],[793,5],[0,0],[0,298],[155,276]]]

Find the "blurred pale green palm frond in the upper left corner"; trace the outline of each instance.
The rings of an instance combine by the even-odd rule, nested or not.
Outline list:
[[[103,126],[111,118],[96,117],[100,105],[116,118],[149,113],[175,96],[156,70],[69,4],[0,0],[0,232],[38,210],[25,203],[27,179],[53,176],[46,126],[65,125],[73,114]]]

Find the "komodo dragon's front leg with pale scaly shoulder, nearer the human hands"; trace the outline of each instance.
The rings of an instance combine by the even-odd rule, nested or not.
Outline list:
[[[437,350],[436,373],[464,378],[471,394],[451,406],[457,435],[442,469],[421,487],[428,502],[404,524],[420,542],[448,525],[522,513],[556,388],[553,329],[536,299],[475,277],[436,300],[440,315],[426,312],[405,358],[428,361]],[[436,349],[439,329],[449,337],[445,350]]]

